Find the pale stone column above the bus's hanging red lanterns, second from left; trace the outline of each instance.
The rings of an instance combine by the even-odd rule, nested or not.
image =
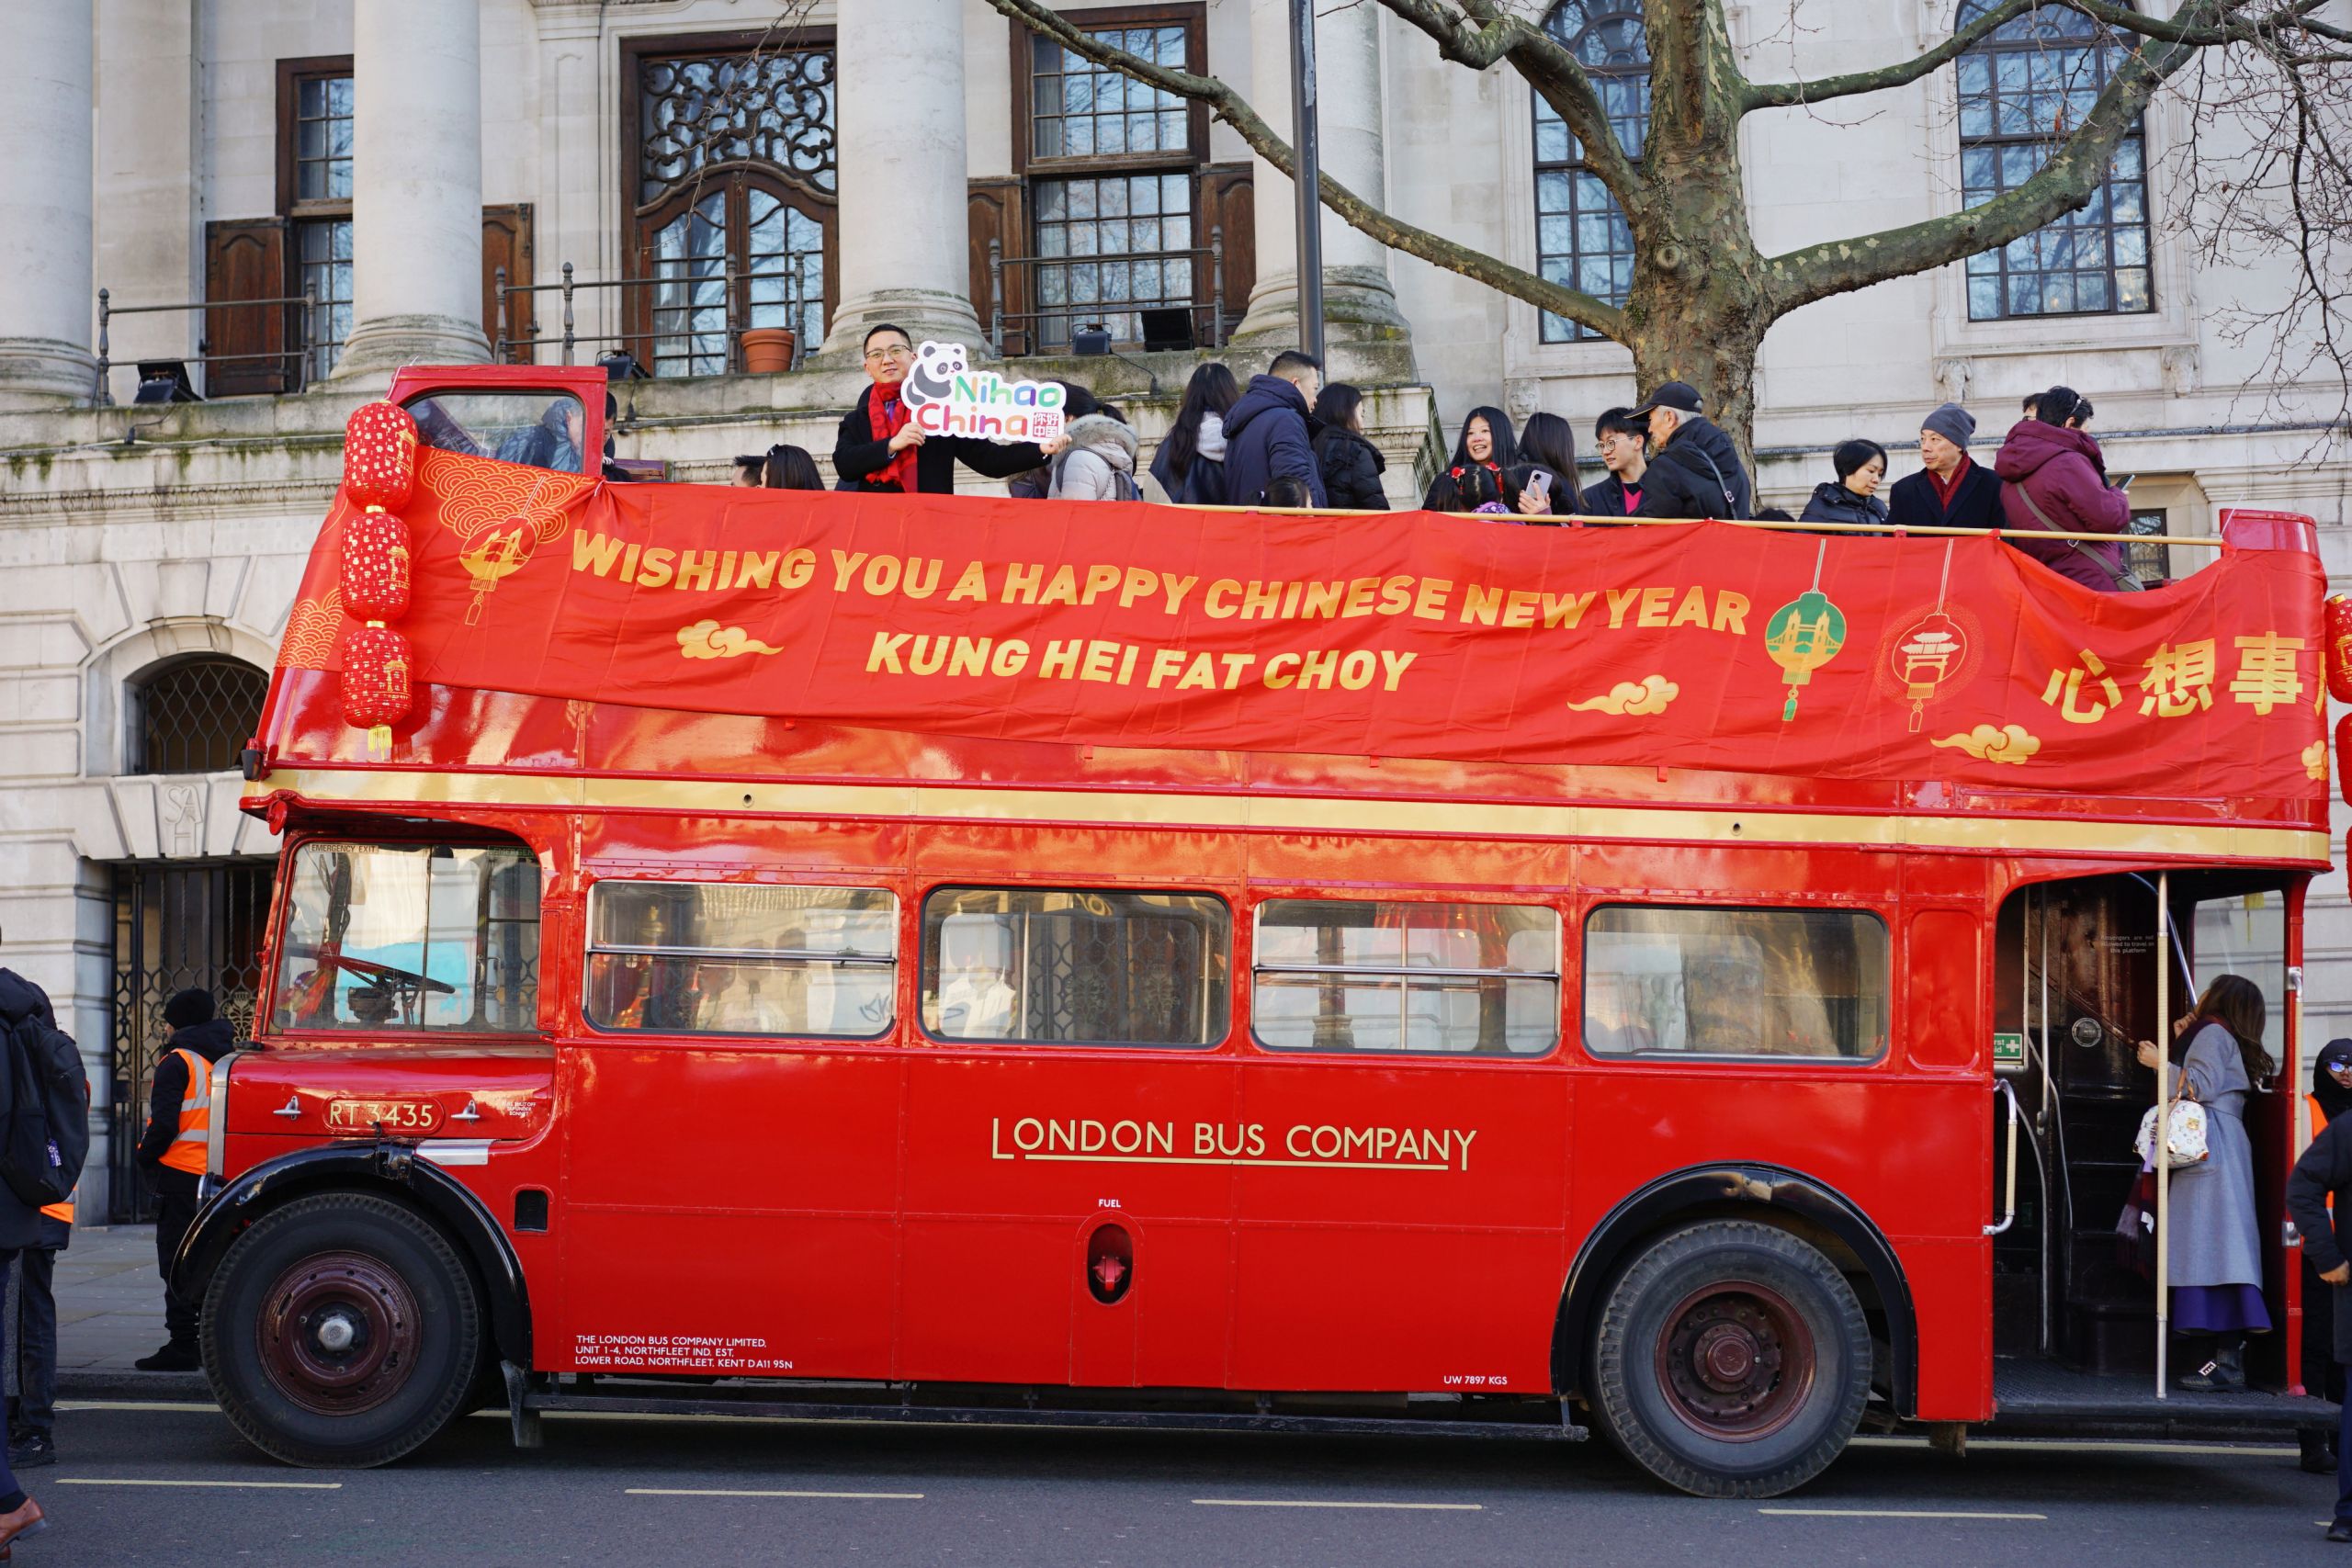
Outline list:
[[[334,374],[487,360],[480,0],[355,0],[350,21],[353,327]]]

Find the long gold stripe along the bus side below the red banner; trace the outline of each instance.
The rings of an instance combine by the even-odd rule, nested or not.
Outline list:
[[[1174,795],[1148,790],[981,790],[969,785],[720,783],[546,773],[280,769],[247,797],[292,790],[332,804],[466,804],[682,816],[826,816],[1223,827],[1494,839],[1828,844],[1853,849],[2079,851],[2197,860],[2328,860],[2328,835],[2230,823],[2086,823],[2018,816],[1858,816],[1679,806],[1517,806],[1498,802]]]

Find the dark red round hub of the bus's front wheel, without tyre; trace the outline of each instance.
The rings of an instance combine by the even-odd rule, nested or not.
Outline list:
[[[416,1295],[381,1258],[318,1253],[280,1274],[254,1326],[261,1371],[320,1415],[355,1415],[416,1368]]]

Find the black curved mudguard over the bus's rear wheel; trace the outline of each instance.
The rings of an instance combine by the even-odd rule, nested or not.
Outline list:
[[[1569,1284],[1559,1298],[1559,1324],[1552,1331],[1552,1387],[1562,1394],[1588,1394],[1583,1387],[1585,1340],[1592,1331],[1592,1314],[1599,1312],[1602,1293],[1616,1279],[1618,1267],[1642,1241],[1689,1220],[1743,1218],[1769,1225],[1773,1215],[1785,1215],[1795,1229],[1825,1232],[1860,1260],[1886,1316],[1893,1408],[1898,1415],[1910,1415],[1917,1403],[1919,1333],[1910,1281],[1903,1279],[1903,1265],[1896,1262],[1886,1237],[1853,1199],[1835,1187],[1802,1171],[1745,1161],[1670,1171],[1621,1199],[1592,1227],[1592,1234],[1576,1248],[1576,1262],[1569,1265]]]

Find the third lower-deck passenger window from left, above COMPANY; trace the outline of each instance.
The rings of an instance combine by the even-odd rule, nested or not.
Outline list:
[[[1249,1023],[1275,1051],[1541,1056],[1559,1044],[1559,912],[1272,898]]]

